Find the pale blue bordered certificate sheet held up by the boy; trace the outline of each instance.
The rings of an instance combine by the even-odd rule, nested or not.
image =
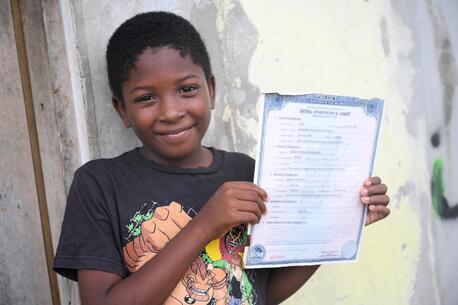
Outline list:
[[[383,101],[262,96],[254,182],[269,194],[250,227],[246,268],[355,261],[366,206],[359,190],[375,159]]]

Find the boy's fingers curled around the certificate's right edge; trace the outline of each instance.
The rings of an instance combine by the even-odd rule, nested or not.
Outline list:
[[[386,195],[387,190],[379,177],[370,177],[364,181],[360,194],[361,202],[368,205],[366,226],[390,214],[390,209],[386,207],[390,202],[390,197]]]

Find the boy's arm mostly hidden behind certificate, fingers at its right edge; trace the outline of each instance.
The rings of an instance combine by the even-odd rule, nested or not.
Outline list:
[[[379,177],[366,179],[361,188],[361,202],[368,205],[366,225],[377,222],[390,214],[386,207],[390,201],[388,188]],[[279,304],[295,293],[320,267],[303,266],[272,269],[267,282],[267,304]]]

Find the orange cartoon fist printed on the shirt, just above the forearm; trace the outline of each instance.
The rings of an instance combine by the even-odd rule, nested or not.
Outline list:
[[[129,271],[140,269],[174,238],[191,220],[180,204],[170,203],[154,211],[150,220],[142,223],[141,235],[125,245],[124,259]]]

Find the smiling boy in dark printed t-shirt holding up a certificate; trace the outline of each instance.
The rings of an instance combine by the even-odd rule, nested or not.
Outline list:
[[[107,47],[113,106],[142,147],[75,173],[54,268],[83,304],[277,304],[318,266],[243,270],[246,224],[266,213],[254,160],[201,145],[215,101],[203,41],[174,14],[123,23]],[[364,182],[366,224],[387,188]]]

